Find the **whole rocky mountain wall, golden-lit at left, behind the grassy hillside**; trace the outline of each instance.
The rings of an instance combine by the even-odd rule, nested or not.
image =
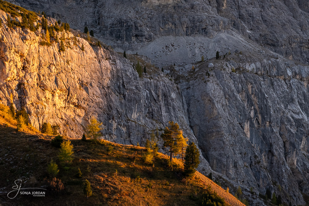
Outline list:
[[[62,134],[80,137],[93,115],[105,125],[104,138],[137,144],[174,120],[198,144],[199,170],[241,185],[251,205],[263,202],[250,187],[306,204],[309,68],[294,61],[307,62],[306,2],[19,3],[71,27],[87,25],[151,63],[176,62],[164,67],[168,75],[157,69],[139,78],[132,62],[83,38],[76,43],[70,32],[58,34],[65,35],[65,52],[59,43],[41,46],[40,29],[8,28],[0,11],[0,98],[9,104],[12,94],[36,128],[50,121]],[[226,57],[192,70],[193,61],[215,51]]]

